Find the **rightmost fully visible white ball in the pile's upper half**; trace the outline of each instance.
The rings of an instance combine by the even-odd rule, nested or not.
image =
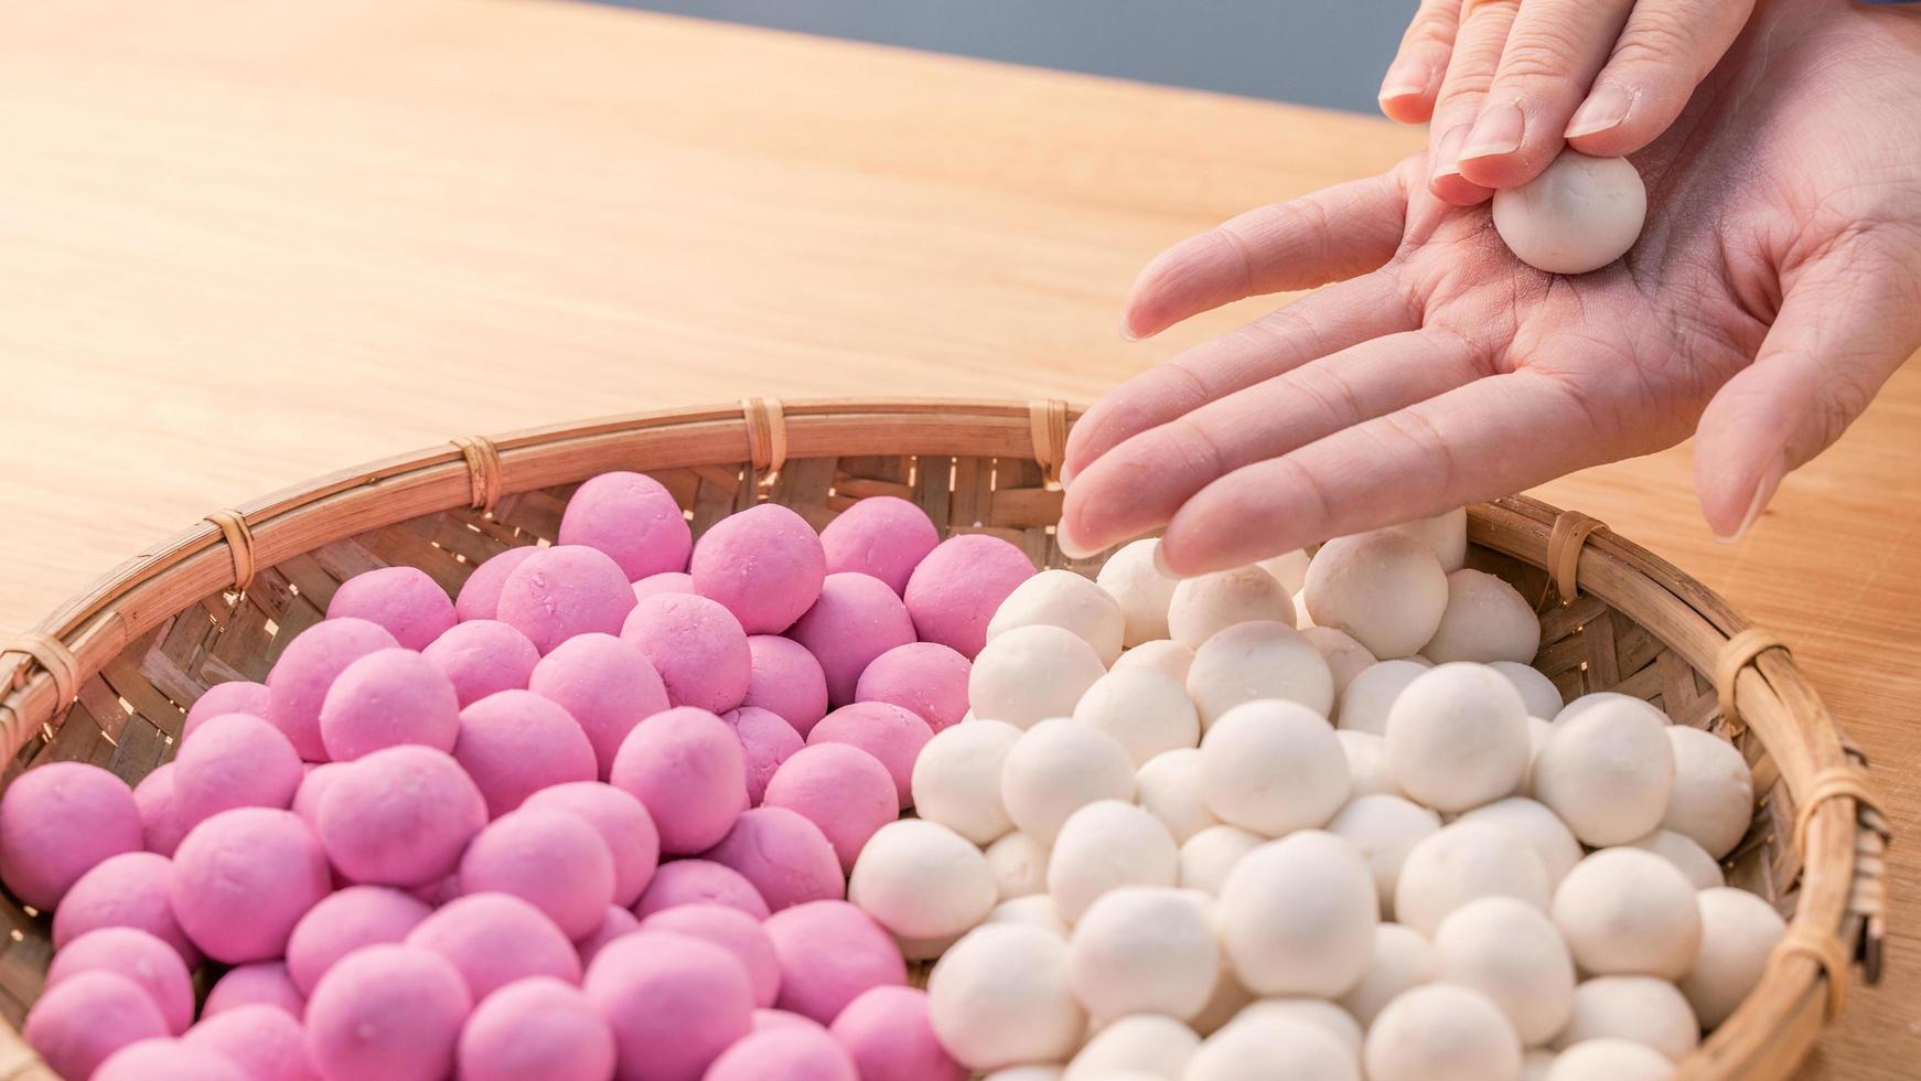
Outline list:
[[[1675,791],[1673,745],[1646,709],[1600,703],[1554,722],[1533,781],[1535,799],[1581,843],[1625,845],[1662,824]]]

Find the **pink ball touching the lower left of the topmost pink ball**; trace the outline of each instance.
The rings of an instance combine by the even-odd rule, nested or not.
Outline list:
[[[617,634],[634,611],[634,589],[599,549],[559,543],[538,549],[499,588],[496,618],[526,636],[542,655],[576,634]]]

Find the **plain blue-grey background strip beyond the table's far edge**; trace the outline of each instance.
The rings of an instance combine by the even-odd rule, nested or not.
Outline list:
[[[609,2],[1370,113],[1414,13],[1414,0]]]

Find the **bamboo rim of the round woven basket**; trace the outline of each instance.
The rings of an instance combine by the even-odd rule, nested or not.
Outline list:
[[[780,444],[793,459],[1024,455],[1058,461],[1060,447],[1047,445],[1053,436],[1043,415],[1064,415],[1072,422],[1082,409],[1060,401],[911,397],[774,405]],[[941,422],[930,424],[932,419]],[[742,461],[759,467],[765,447],[755,428],[765,422],[759,399],[663,409],[524,428],[490,440],[453,440],[323,474],[234,511],[209,515],[165,538],[60,605],[35,624],[35,632],[63,647],[83,680],[92,678],[152,626],[202,597],[232,591],[255,565],[271,566],[332,540],[419,515],[478,505],[482,467],[467,449],[473,444],[488,449],[494,492],[515,493],[578,482],[609,468]],[[1518,549],[1544,551],[1560,516],[1558,509],[1525,495],[1481,503],[1470,509],[1471,540],[1543,566],[1543,559]],[[1721,647],[1752,626],[1717,593],[1606,528],[1579,547],[1575,572],[1583,591],[1641,622],[1698,672],[1712,674]],[[0,661],[0,735],[10,758],[42,726],[54,728],[63,718],[56,672],[44,670],[31,655],[10,653]],[[1733,701],[1777,760],[1794,801],[1810,793],[1817,774],[1854,768],[1861,760],[1785,649],[1763,649],[1740,666]],[[1879,887],[1883,868],[1877,858],[1861,858],[1860,849],[1867,847],[1869,835],[1885,841],[1885,824],[1846,795],[1821,803],[1806,831],[1792,927],[1842,943],[1842,972],[1806,952],[1777,958],[1781,964],[1771,966],[1737,1014],[1687,1060],[1683,1075],[1754,1075],[1756,1064],[1773,1066],[1763,1073],[1785,1075],[1819,1035],[1829,993],[1835,991],[1823,991],[1823,981],[1846,981],[1846,958],[1854,956],[1869,962],[1873,977],[1879,931],[1867,920],[1861,883]],[[1792,839],[1783,839],[1783,845],[1788,843]]]

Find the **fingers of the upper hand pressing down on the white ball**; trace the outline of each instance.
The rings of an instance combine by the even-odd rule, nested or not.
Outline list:
[[[1381,111],[1433,121],[1429,188],[1456,205],[1535,179],[1562,146],[1635,154],[1681,115],[1754,0],[1422,0]]]

